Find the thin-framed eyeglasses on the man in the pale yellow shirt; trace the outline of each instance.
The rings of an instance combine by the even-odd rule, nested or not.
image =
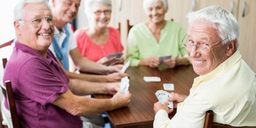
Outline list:
[[[185,36],[187,36],[187,34],[185,34]],[[208,43],[195,44],[195,42],[193,40],[189,40],[188,42],[184,43],[183,40],[185,39],[185,36],[181,41],[182,44],[185,46],[185,48],[191,50],[194,46],[196,46],[199,49],[199,51],[202,51],[202,52],[209,52],[210,48],[214,48],[215,46],[218,46],[219,44],[224,42],[224,40],[228,39],[228,38],[225,38],[221,42],[218,42],[217,44],[210,46]]]

